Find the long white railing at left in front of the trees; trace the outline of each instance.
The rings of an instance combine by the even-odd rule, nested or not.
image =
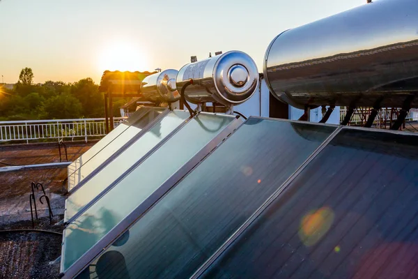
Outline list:
[[[126,117],[115,117],[114,127]],[[83,139],[106,135],[104,118],[0,121],[0,142]]]

